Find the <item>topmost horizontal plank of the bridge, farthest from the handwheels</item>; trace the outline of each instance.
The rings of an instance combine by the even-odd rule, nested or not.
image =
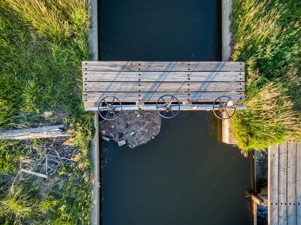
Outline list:
[[[83,71],[244,71],[244,62],[82,62]]]

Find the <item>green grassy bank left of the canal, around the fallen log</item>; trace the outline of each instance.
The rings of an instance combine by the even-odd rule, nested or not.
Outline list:
[[[23,128],[63,123],[71,133],[0,142],[1,224],[89,224],[92,123],[81,101],[88,27],[85,0],[0,0],[0,129],[17,129],[14,116],[26,114]],[[47,120],[37,116],[45,111]],[[51,179],[19,172],[56,147],[70,148],[73,161]]]

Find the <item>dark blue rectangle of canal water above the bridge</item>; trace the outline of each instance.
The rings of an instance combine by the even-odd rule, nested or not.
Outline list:
[[[216,0],[102,0],[101,60],[220,59]]]

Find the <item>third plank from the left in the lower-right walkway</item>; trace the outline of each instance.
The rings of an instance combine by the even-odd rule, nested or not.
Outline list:
[[[287,150],[287,224],[296,224],[296,149],[294,141],[288,142]]]

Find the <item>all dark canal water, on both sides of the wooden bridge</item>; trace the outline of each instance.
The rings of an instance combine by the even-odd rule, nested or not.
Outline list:
[[[101,60],[220,61],[219,7],[104,0]],[[251,224],[250,160],[213,138],[209,117],[180,112],[134,149],[102,142],[103,224]]]

